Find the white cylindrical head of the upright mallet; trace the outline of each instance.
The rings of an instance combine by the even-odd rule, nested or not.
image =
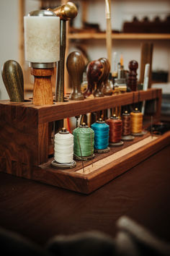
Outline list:
[[[32,63],[59,61],[60,18],[56,16],[24,17],[24,53],[25,60]]]

